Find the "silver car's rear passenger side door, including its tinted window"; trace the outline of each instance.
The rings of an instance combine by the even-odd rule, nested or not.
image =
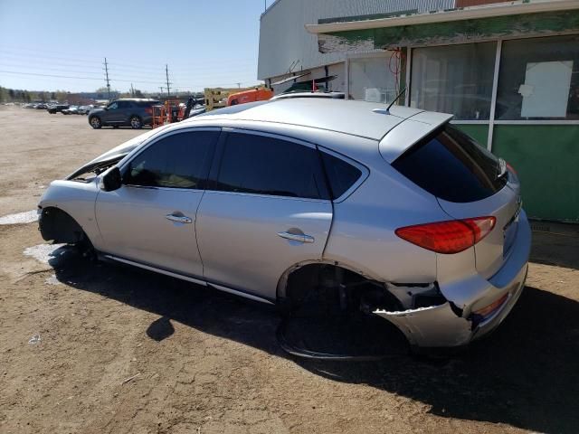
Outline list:
[[[283,272],[326,246],[332,203],[318,150],[231,130],[218,154],[197,213],[204,278],[275,299]]]

